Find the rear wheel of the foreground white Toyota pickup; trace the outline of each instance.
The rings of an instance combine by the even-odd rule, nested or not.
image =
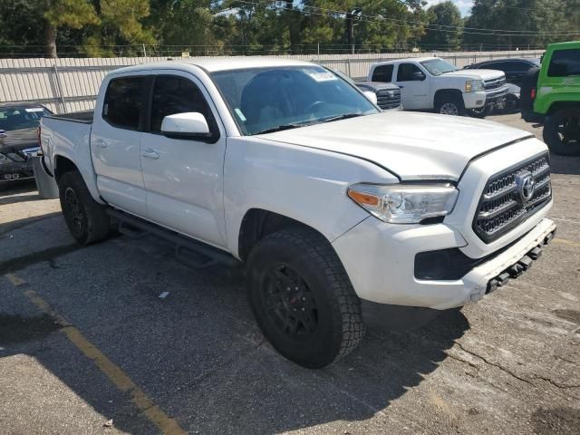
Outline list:
[[[90,245],[109,236],[111,220],[92,198],[79,172],[64,173],[58,188],[64,221],[79,243]]]

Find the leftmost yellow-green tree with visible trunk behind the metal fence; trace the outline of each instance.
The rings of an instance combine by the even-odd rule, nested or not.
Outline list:
[[[56,34],[58,29],[69,27],[80,29],[84,24],[99,24],[94,7],[87,0],[43,0],[38,3],[43,11],[46,32],[46,53],[58,57]]]

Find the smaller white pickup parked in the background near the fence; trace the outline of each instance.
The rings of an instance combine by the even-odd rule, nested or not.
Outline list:
[[[495,70],[458,70],[440,57],[411,57],[374,63],[368,80],[401,88],[406,111],[485,116],[507,95],[506,74]]]

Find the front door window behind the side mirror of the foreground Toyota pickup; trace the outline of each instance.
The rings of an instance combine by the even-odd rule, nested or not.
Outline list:
[[[215,130],[208,102],[195,83],[177,76],[157,77],[151,105],[151,132],[161,131],[161,122],[166,116],[189,111],[201,113],[210,130]]]

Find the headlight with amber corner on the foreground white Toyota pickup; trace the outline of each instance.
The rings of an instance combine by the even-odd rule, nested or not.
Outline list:
[[[449,184],[355,184],[347,194],[375,218],[391,224],[415,224],[425,218],[449,215],[459,190]]]

